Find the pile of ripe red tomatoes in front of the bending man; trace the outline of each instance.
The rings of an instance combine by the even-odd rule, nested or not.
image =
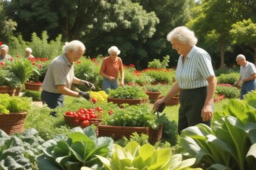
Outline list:
[[[73,111],[65,112],[65,115],[68,115],[69,117],[73,117],[72,125],[74,126],[80,125],[82,127],[87,127],[90,125],[91,120],[98,118],[98,115],[101,117],[102,112],[103,111],[101,107],[95,107],[95,110],[80,108],[79,110],[77,110],[77,112],[73,112]]]

